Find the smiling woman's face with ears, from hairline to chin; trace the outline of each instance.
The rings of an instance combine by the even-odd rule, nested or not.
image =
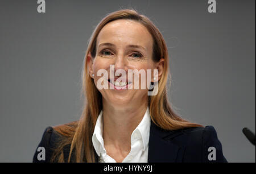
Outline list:
[[[138,89],[135,89],[135,77],[128,77],[128,74],[129,69],[134,72],[135,70],[147,72],[147,69],[150,69],[152,72],[150,81],[158,81],[163,69],[163,59],[155,63],[152,60],[152,48],[151,34],[146,27],[134,20],[114,20],[102,28],[97,37],[96,56],[93,58],[89,54],[87,59],[90,76],[94,79],[97,88],[98,80],[103,83],[105,79],[105,87],[108,89],[98,88],[103,102],[115,107],[141,105],[147,102],[147,85],[146,89],[142,89],[142,83],[146,82],[148,74],[145,73],[145,78],[138,76]],[[110,69],[110,65],[113,69]],[[107,76],[103,77],[103,74],[97,76],[97,72],[102,69],[107,72]],[[155,76],[155,79],[153,78],[154,69],[158,69],[158,76]],[[110,72],[126,73],[126,76],[114,74],[112,78]],[[118,79],[118,77],[121,78]],[[119,82],[121,79],[123,83]]]

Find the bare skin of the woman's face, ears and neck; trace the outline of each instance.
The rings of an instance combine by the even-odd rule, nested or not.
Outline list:
[[[102,45],[112,43],[113,45]],[[131,48],[139,45],[142,48]],[[152,60],[153,39],[147,28],[130,19],[114,20],[106,24],[97,37],[96,56],[88,54],[90,76],[97,84],[97,71],[110,65],[117,69],[158,69],[158,81],[163,72],[164,59]],[[144,49],[143,49],[144,48]],[[105,50],[104,50],[105,49]],[[140,55],[141,54],[141,55]],[[92,76],[94,74],[94,77]],[[109,75],[110,76],[110,75]],[[104,147],[115,161],[122,162],[131,150],[131,134],[141,122],[148,106],[147,89],[101,89],[103,105]]]

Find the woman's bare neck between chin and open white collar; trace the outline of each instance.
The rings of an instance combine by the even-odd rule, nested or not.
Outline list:
[[[114,107],[103,103],[104,146],[130,151],[131,134],[142,121],[147,103],[127,107]]]

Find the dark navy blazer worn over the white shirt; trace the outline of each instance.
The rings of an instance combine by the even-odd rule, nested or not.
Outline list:
[[[44,131],[38,147],[46,150],[46,160],[37,159],[40,151],[36,151],[33,162],[49,162],[52,150],[59,134],[52,127],[47,127]],[[216,160],[209,160],[214,147]],[[64,148],[64,160],[68,160],[70,146]],[[36,148],[38,149],[38,148]],[[95,153],[96,154],[96,153]],[[209,155],[210,154],[210,155]],[[96,154],[96,161],[98,156]],[[213,126],[190,127],[186,129],[166,131],[156,126],[151,121],[150,139],[148,142],[148,162],[165,163],[225,163],[228,162],[222,154],[222,145],[217,138],[217,133]]]

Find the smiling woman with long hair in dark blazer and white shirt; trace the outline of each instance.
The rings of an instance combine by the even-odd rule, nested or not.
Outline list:
[[[129,70],[150,70],[146,78],[156,93],[148,94],[148,81],[142,88],[146,79],[142,75],[138,89],[136,73],[109,77]],[[82,71],[86,102],[80,120],[47,127],[38,146],[45,148],[46,159],[36,151],[33,161],[226,162],[212,126],[188,122],[171,109],[167,79],[168,51],[158,28],[134,10],[107,15],[86,51]]]

